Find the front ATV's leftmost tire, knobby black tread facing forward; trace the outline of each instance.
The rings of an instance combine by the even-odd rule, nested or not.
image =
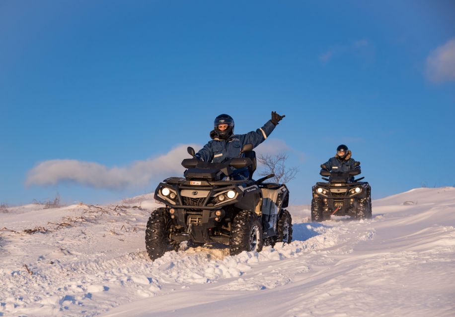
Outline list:
[[[169,214],[165,208],[159,208],[150,215],[146,229],[146,249],[152,261],[172,249],[172,245],[168,241],[168,224]]]

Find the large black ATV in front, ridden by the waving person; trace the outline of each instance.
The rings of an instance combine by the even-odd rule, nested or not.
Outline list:
[[[154,198],[165,207],[152,212],[147,223],[146,247],[150,259],[168,250],[178,250],[182,241],[190,244],[219,242],[229,245],[231,255],[262,250],[265,244],[290,243],[292,219],[286,185],[264,183],[270,174],[251,178],[256,156],[251,144],[241,150],[244,158],[223,163],[184,159],[187,168],[182,177],[170,177],[159,183]],[[236,169],[246,168],[249,178],[232,180]]]

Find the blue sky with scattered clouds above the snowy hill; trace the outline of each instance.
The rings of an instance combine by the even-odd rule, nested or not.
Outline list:
[[[374,199],[454,186],[455,3],[0,1],[0,203],[105,203],[178,175],[229,113],[258,152],[347,144]],[[198,150],[198,149],[196,149]]]

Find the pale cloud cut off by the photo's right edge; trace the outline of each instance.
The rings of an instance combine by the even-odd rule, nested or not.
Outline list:
[[[427,57],[427,77],[436,83],[455,80],[455,38]]]

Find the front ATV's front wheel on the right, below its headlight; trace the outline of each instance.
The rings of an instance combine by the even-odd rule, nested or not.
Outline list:
[[[262,245],[262,225],[256,213],[249,210],[237,213],[230,231],[230,255],[233,256],[243,251],[260,252]]]

